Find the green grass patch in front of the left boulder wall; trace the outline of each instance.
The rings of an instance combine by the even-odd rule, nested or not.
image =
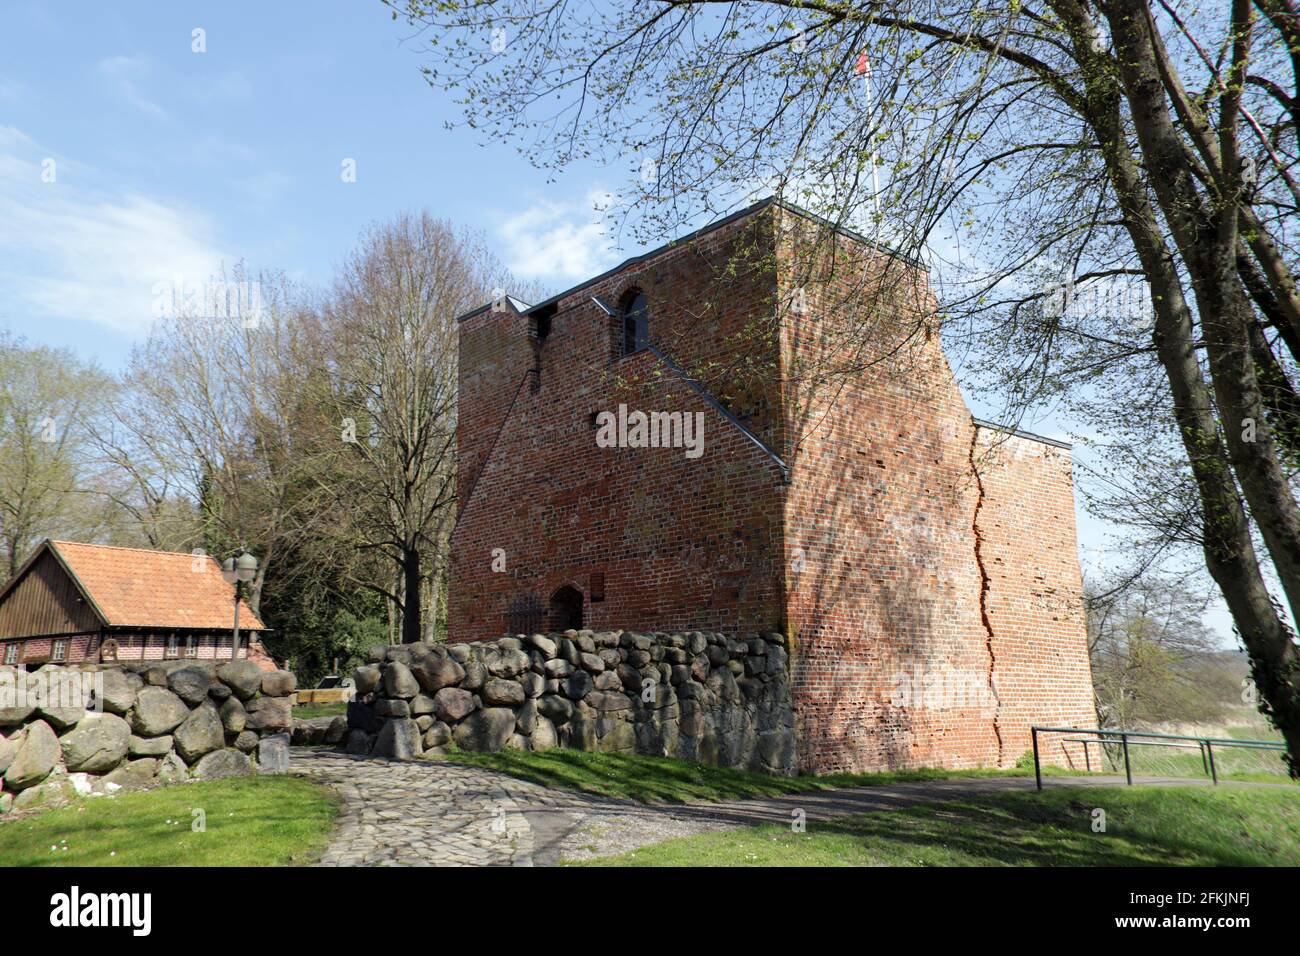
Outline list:
[[[205,832],[191,830],[194,810]],[[292,777],[187,783],[0,823],[5,866],[286,866],[315,860],[337,813]]]

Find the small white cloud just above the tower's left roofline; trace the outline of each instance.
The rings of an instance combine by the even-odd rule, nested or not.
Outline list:
[[[608,203],[607,193],[592,191],[577,202],[542,200],[511,216],[497,230],[507,268],[546,282],[584,280],[608,268],[614,243],[602,212]]]

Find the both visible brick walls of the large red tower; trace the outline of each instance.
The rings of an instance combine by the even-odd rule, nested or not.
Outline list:
[[[536,354],[523,316],[462,324],[451,639],[498,636],[512,601],[564,584],[598,630],[784,631],[811,771],[1010,765],[1030,722],[1092,724],[1069,454],[984,454],[924,273],[849,239],[805,268],[788,216],[580,290]],[[612,358],[590,297],[633,286],[651,337],[790,463],[788,486],[654,356]],[[620,402],[703,410],[703,457],[598,449],[592,415]]]

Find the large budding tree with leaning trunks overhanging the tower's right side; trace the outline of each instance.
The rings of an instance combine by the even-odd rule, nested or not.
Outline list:
[[[827,232],[931,260],[949,342],[974,346],[1013,418],[1134,398],[1130,447],[1178,462],[1164,484],[1179,496],[1154,506],[1190,502],[1188,537],[1300,774],[1300,646],[1269,588],[1294,618],[1292,0],[390,5],[428,29],[428,77],[460,91],[467,124],[547,168],[629,166],[615,208],[634,230],[783,193]],[[857,315],[898,281],[835,268]],[[1123,280],[1149,312],[1062,307]],[[870,336],[846,345],[862,360],[833,373],[880,360]],[[1147,389],[1122,390],[1132,378]]]

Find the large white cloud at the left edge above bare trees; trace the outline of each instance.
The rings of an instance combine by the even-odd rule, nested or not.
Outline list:
[[[207,217],[138,195],[98,195],[56,161],[42,182],[40,148],[0,127],[0,287],[9,319],[81,319],[139,334],[160,282],[203,282],[224,256]],[[81,179],[82,177],[75,177]],[[21,312],[21,315],[20,315]]]

